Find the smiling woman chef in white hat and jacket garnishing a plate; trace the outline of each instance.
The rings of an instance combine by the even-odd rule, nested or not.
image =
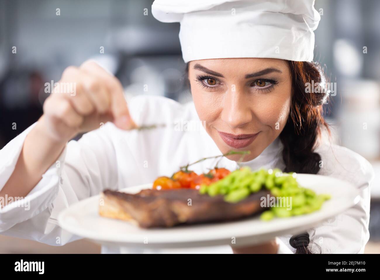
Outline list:
[[[251,246],[163,252],[363,253],[369,232],[372,167],[355,152],[330,144],[322,106],[326,78],[312,62],[320,15],[314,0],[156,0],[153,16],[180,22],[179,39],[193,102],[138,96],[128,104],[120,82],[94,62],[70,66],[44,114],[0,152],[0,196],[24,197],[30,209],[5,205],[0,232],[51,245],[78,239],[57,224],[60,211],[84,198],[170,176],[199,158],[249,150],[253,170],[322,174],[350,181],[359,202],[301,235]],[[310,83],[320,90],[306,90]],[[201,123],[195,129],[171,124]],[[166,123],[166,128],[130,130]],[[79,141],[69,141],[87,132]],[[218,166],[239,167],[240,155]],[[194,166],[203,173],[209,162]],[[175,238],[175,237],[173,237]],[[59,242],[58,242],[59,240]],[[142,244],[142,248],[143,248]],[[147,252],[148,250],[141,250]],[[103,248],[103,252],[128,252]]]

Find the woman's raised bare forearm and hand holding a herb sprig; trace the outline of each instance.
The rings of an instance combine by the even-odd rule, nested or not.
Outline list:
[[[68,67],[58,85],[44,103],[43,116],[25,138],[0,197],[25,197],[76,134],[108,121],[125,130],[136,126],[122,85],[95,62]]]

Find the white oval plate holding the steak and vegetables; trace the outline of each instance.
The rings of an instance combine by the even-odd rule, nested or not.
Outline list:
[[[265,242],[276,236],[299,234],[342,213],[359,201],[359,191],[346,181],[312,174],[297,174],[297,181],[317,194],[331,194],[331,199],[319,211],[311,214],[271,221],[261,221],[256,216],[233,222],[141,229],[126,221],[101,217],[98,214],[100,196],[96,195],[63,210],[58,221],[63,229],[75,235],[109,246],[188,248],[231,245],[233,237],[239,245],[248,245]],[[133,194],[151,186],[145,184],[121,191]]]

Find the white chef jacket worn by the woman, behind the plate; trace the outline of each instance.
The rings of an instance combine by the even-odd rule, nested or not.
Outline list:
[[[221,152],[204,130],[193,102],[179,104],[159,96],[136,96],[128,103],[130,114],[138,125],[166,123],[164,128],[124,131],[112,123],[86,133],[79,141],[70,141],[52,166],[30,191],[30,210],[15,203],[0,209],[0,232],[4,235],[37,240],[50,245],[64,245],[81,237],[59,227],[58,214],[71,204],[99,194],[104,189],[153,182],[158,176],[171,176],[179,166]],[[174,125],[173,125],[174,123]],[[25,136],[32,126],[0,150],[0,189],[14,170]],[[258,168],[283,168],[282,143],[277,138],[258,157],[241,163]],[[350,181],[360,191],[359,202],[329,222],[309,230],[310,245],[318,245],[322,253],[363,253],[369,239],[370,183],[374,171],[370,163],[355,152],[329,142],[317,149],[323,160],[318,174]],[[206,160],[191,167],[203,173],[215,165]],[[235,170],[237,163],[222,158],[220,167]],[[278,253],[294,253],[291,235],[277,237]],[[58,242],[59,240],[59,242]],[[230,246],[190,249],[130,250],[102,248],[103,253],[232,253]]]

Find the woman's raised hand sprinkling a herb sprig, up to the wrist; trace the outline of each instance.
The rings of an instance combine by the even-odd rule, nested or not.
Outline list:
[[[66,68],[58,84],[44,102],[38,124],[55,141],[67,142],[108,121],[125,130],[135,126],[119,80],[97,63]]]

